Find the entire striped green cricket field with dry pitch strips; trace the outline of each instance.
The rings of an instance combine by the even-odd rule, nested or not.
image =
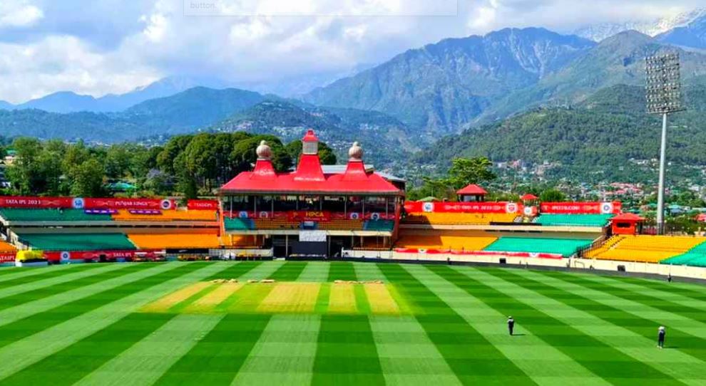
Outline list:
[[[0,385],[385,383],[706,385],[706,287],[282,261],[0,270]]]

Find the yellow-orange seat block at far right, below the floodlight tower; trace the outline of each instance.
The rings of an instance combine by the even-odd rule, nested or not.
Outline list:
[[[704,241],[706,237],[620,235],[613,236],[599,248],[588,251],[585,257],[657,263],[684,254]]]

